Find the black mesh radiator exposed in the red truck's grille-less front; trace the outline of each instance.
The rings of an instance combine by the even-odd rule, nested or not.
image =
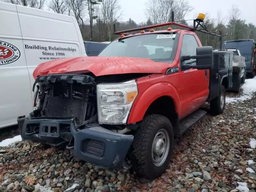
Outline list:
[[[85,101],[81,99],[53,96],[53,91],[51,91],[45,115],[62,118],[74,117],[78,122],[82,122],[84,105]]]

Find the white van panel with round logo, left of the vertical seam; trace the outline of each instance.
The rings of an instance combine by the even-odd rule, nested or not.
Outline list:
[[[16,5],[0,2],[0,128],[32,111],[30,79]],[[8,19],[6,19],[8,18]]]

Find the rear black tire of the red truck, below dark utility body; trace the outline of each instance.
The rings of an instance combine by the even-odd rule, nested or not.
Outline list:
[[[224,96],[224,105],[221,105],[221,95]],[[219,95],[210,101],[210,112],[214,115],[222,114],[226,105],[226,90],[222,85],[220,86]]]

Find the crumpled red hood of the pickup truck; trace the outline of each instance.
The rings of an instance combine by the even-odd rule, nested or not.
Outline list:
[[[92,72],[95,76],[127,73],[162,73],[171,67],[168,63],[130,57],[76,57],[52,60],[39,64],[33,72],[40,75]]]

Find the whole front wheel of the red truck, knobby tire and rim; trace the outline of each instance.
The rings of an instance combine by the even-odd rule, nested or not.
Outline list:
[[[174,134],[170,120],[158,114],[147,116],[134,136],[130,154],[138,176],[155,179],[169,166]]]

